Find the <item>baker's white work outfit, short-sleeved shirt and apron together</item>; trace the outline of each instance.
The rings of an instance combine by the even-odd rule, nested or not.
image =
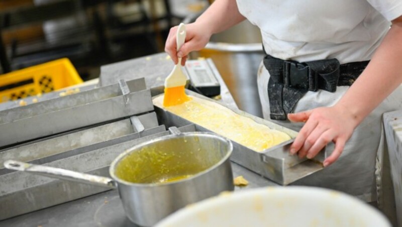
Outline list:
[[[267,54],[299,62],[337,58],[343,64],[369,60],[390,21],[402,15],[400,0],[237,0],[237,4],[240,13],[260,28]],[[270,120],[268,79],[269,73],[261,64],[258,91],[264,118]],[[334,105],[348,88],[337,87],[334,93],[309,91],[293,112]],[[400,108],[399,87],[356,128],[337,162],[295,184],[332,188],[375,201],[380,183],[376,181],[375,166],[377,154],[382,154],[381,116]],[[274,122],[296,131],[303,126]],[[327,149],[331,153],[334,147],[329,145]]]

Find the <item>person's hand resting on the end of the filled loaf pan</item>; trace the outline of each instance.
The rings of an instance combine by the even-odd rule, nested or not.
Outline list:
[[[335,149],[325,159],[324,167],[334,163],[342,154],[346,141],[352,136],[359,122],[342,106],[319,107],[305,112],[289,113],[291,122],[306,122],[290,147],[290,153],[299,158],[314,158],[328,143],[333,141]]]

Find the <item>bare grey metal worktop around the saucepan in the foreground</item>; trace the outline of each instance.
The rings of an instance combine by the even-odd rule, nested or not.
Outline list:
[[[244,188],[274,186],[261,177],[232,162],[233,175],[243,175],[249,181]],[[0,221],[0,226],[136,226],[126,217],[117,190],[110,190],[60,205]]]

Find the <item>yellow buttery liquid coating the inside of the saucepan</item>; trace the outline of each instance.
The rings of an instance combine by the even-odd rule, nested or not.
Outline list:
[[[144,146],[116,165],[118,178],[139,184],[179,181],[203,172],[222,159],[203,147],[198,137],[176,138]]]

